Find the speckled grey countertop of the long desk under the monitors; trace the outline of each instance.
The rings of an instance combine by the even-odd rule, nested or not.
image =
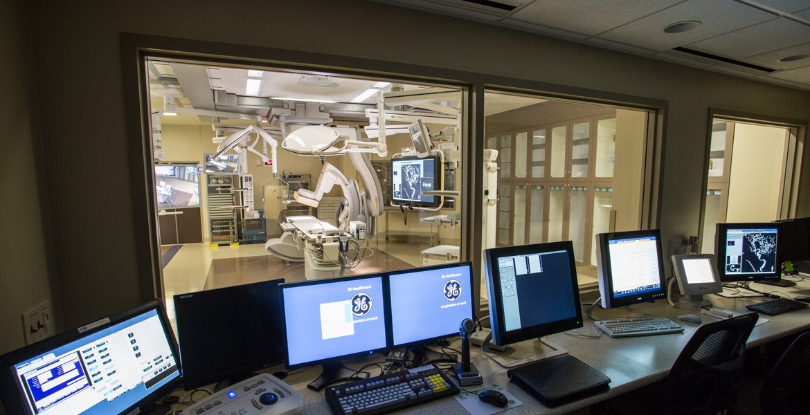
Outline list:
[[[753,287],[757,290],[774,292],[779,295],[789,294],[791,297],[795,295],[810,295],[810,282],[799,282],[798,286],[790,288],[763,286],[757,283],[754,283]],[[727,299],[718,295],[710,295],[707,296],[707,298],[714,303],[714,307],[735,311],[735,313],[748,312],[745,308],[746,305],[766,299],[764,297]],[[585,408],[590,404],[606,400],[612,396],[617,396],[666,378],[667,372],[672,366],[672,363],[675,362],[678,354],[680,354],[680,350],[683,349],[686,342],[689,341],[689,338],[692,337],[693,332],[695,332],[699,326],[699,324],[678,321],[678,315],[699,315],[703,323],[716,320],[712,316],[700,314],[700,308],[683,303],[677,304],[676,308],[672,308],[666,300],[659,300],[656,303],[637,304],[631,308],[635,311],[647,314],[670,317],[683,326],[685,330],[683,333],[678,334],[643,337],[613,338],[603,334],[602,337],[598,339],[589,339],[573,337],[564,333],[546,337],[549,341],[568,349],[569,354],[573,357],[578,358],[582,362],[586,362],[596,370],[601,371],[604,375],[608,375],[611,379],[611,389],[608,392],[596,396],[591,396],[556,408],[546,408],[533,397],[527,395],[526,392],[523,392],[519,387],[513,383],[509,383],[509,379],[506,378],[506,369],[485,356],[480,348],[475,346],[471,347],[471,361],[475,363],[475,366],[484,377],[484,384],[497,383],[523,402],[521,406],[510,409],[508,411],[509,414],[569,413],[577,409]],[[594,311],[594,316],[595,318],[629,317],[633,316],[633,313],[623,309],[598,309]],[[810,307],[798,311],[790,311],[781,315],[760,315],[760,318],[765,318],[770,321],[760,324],[753,329],[751,337],[748,339],[748,349],[782,337],[790,336],[791,334],[810,330]],[[586,335],[595,334],[593,321],[586,320],[585,326],[575,330],[575,332]],[[460,341],[454,339],[452,347],[458,349],[459,345]],[[540,345],[539,341],[524,341],[513,346],[516,356],[535,354],[535,348],[544,347]],[[379,355],[376,357],[381,358]],[[370,359],[349,360],[344,363],[351,368],[360,368],[360,366],[368,362],[370,362]],[[281,370],[279,367],[273,369],[275,369],[275,371]],[[292,371],[288,378],[284,379],[285,382],[290,384],[290,386],[300,392],[301,396],[304,397],[305,413],[308,415],[330,414],[330,409],[326,404],[323,393],[310,391],[306,387],[307,383],[318,377],[320,370],[320,366],[308,367],[298,371]],[[272,371],[272,369],[270,371]],[[369,371],[371,371],[372,375],[377,375],[376,368],[369,369]],[[404,410],[402,413],[424,413],[426,408],[430,409],[430,413],[435,414],[465,413],[461,405],[451,398],[419,405]]]

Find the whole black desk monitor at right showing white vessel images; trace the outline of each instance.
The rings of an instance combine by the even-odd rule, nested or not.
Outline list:
[[[718,223],[714,256],[722,282],[778,281],[781,223]]]

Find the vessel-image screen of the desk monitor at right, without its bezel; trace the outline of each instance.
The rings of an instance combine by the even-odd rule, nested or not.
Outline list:
[[[726,274],[775,273],[777,230],[729,229],[726,232]]]

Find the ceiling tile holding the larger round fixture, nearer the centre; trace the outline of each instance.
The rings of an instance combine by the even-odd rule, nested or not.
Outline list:
[[[691,0],[605,32],[599,37],[663,51],[776,18],[776,15],[732,0]],[[663,32],[667,25],[686,20],[697,20],[702,24],[689,32]]]

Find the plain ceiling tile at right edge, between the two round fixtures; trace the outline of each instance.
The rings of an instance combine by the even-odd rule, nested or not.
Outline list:
[[[780,17],[735,32],[689,44],[690,49],[743,59],[785,49],[810,39],[810,26]]]

